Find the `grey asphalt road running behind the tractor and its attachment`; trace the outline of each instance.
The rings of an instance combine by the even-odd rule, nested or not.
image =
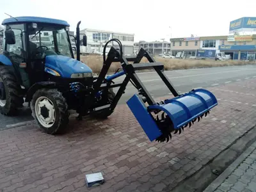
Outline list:
[[[256,77],[256,66],[247,65],[239,67],[173,70],[165,71],[165,74],[171,80],[176,90],[182,93],[188,92],[193,88],[207,88],[235,81],[244,81],[245,79]],[[143,84],[145,84],[152,97],[161,97],[170,94],[170,91],[156,72],[138,73],[138,76]],[[115,83],[120,83],[123,79],[124,77],[119,77],[115,80]],[[119,104],[124,104],[136,92],[137,90],[131,83],[129,83],[124,95],[119,101]],[[26,122],[29,120],[33,120],[29,109],[20,111],[20,115],[15,117],[0,115],[0,130],[6,129],[6,125],[10,126],[10,124],[17,124],[19,122]]]

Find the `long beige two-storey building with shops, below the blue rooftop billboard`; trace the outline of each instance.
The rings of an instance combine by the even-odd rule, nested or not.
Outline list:
[[[227,35],[227,36],[200,36],[198,38],[172,38],[173,56],[181,55],[185,58],[199,56],[200,50],[204,54],[211,50],[214,58],[217,52],[225,52],[232,60],[255,60],[256,35]]]

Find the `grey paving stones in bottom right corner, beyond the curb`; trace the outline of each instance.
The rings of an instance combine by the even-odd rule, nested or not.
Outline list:
[[[227,170],[214,180],[204,192],[256,192],[256,142],[251,148],[253,150],[250,153],[245,152],[237,158],[241,163],[235,161],[233,164],[236,165],[228,166]],[[218,187],[214,188],[214,186]]]

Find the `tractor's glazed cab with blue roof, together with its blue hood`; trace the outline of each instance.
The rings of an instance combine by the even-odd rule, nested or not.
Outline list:
[[[49,75],[70,78],[77,72],[92,72],[74,59],[66,21],[16,17],[5,19],[2,24],[5,27],[3,55],[11,61],[24,88],[46,81]]]

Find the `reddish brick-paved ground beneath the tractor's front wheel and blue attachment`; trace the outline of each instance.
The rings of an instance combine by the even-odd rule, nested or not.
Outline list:
[[[126,105],[108,120],[70,119],[61,136],[0,131],[0,191],[170,191],[256,124],[256,79],[209,90],[218,106],[169,143],[150,143]],[[95,172],[106,182],[88,189]]]

